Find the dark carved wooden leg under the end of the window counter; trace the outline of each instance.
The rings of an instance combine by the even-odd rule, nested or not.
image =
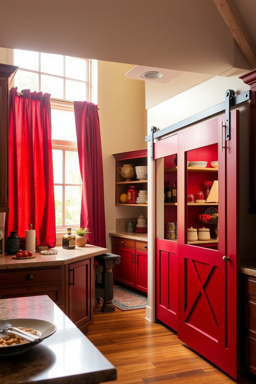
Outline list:
[[[120,256],[113,253],[104,253],[94,257],[94,260],[102,265],[102,288],[104,288],[104,298],[101,307],[102,312],[114,312],[113,300],[113,266],[120,263]]]

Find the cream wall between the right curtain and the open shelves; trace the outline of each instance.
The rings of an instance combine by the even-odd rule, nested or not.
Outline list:
[[[125,74],[133,65],[98,62],[98,106],[101,125],[101,143],[104,173],[104,199],[107,248],[111,249],[108,233],[115,230],[115,219],[137,217],[136,207],[115,205],[114,153],[134,151],[147,147],[144,81],[128,79]]]

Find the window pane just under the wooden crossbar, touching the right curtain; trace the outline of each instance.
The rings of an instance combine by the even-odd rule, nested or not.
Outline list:
[[[65,184],[82,184],[77,151],[65,151]]]

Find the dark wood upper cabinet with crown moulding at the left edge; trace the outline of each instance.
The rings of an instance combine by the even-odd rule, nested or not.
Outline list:
[[[0,64],[0,212],[8,212],[8,85],[18,67]]]

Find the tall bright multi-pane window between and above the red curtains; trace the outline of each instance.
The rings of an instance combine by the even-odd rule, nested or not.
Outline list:
[[[19,66],[18,91],[51,94],[53,179],[56,231],[80,225],[82,179],[78,161],[73,101],[97,104],[97,61],[34,51],[13,50]]]

